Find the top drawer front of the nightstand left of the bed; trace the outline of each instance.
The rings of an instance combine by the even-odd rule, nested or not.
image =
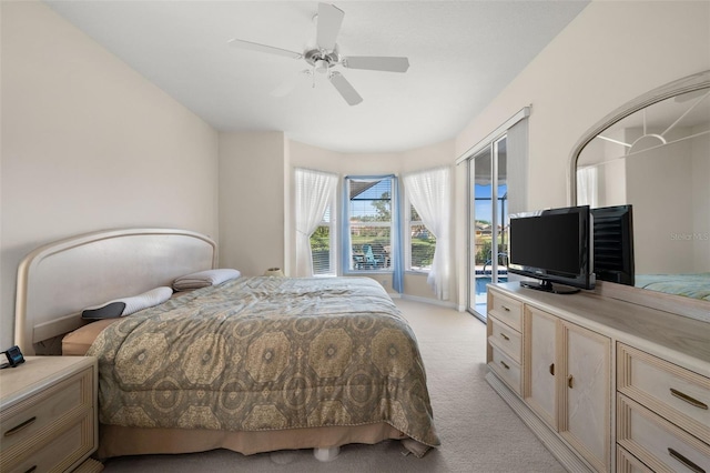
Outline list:
[[[83,416],[93,409],[92,368],[87,368],[47,390],[2,411],[2,450],[24,442],[38,442],[62,417]]]

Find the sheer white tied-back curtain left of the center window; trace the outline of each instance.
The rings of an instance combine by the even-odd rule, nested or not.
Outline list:
[[[296,169],[296,276],[313,275],[311,235],[335,195],[337,175]]]

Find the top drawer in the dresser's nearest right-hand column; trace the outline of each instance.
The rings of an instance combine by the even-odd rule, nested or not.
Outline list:
[[[710,439],[710,378],[619,343],[617,390],[699,439]]]

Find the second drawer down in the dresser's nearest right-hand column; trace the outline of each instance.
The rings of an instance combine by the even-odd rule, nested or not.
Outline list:
[[[617,442],[656,472],[710,472],[710,445],[621,394]]]

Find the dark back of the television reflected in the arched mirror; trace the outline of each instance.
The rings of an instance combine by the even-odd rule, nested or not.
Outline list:
[[[631,205],[591,209],[595,274],[598,280],[633,285],[633,218]]]

